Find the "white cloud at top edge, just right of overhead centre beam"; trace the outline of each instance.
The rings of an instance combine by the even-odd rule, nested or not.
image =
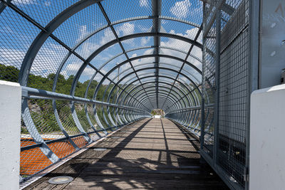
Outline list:
[[[177,16],[179,19],[185,19],[190,13],[191,3],[189,0],[178,1],[170,8],[170,13]]]

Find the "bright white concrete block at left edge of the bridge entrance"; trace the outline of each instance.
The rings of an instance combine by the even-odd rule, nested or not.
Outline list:
[[[21,87],[0,80],[0,189],[19,189]]]

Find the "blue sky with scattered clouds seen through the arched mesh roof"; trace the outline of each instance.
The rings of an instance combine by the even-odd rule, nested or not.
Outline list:
[[[31,16],[35,21],[40,23],[42,26],[51,21],[57,14],[71,6],[76,1],[59,1],[59,0],[14,0],[16,6],[23,10],[26,14]],[[113,23],[115,21],[120,21],[126,18],[135,18],[138,16],[151,16],[152,8],[150,0],[129,0],[129,1],[102,1],[102,5],[108,14],[110,21]],[[199,26],[202,23],[202,3],[200,1],[193,0],[182,0],[182,1],[166,1],[162,0],[162,14],[161,23],[162,28],[160,32],[173,33],[180,36],[185,36],[187,38],[195,38],[197,33],[197,28],[191,26],[187,23],[179,23],[177,21],[166,20],[165,18],[182,19],[187,22],[192,22]],[[110,28],[106,27],[106,21],[98,8],[97,4],[89,6],[86,9],[73,15],[70,19],[65,21],[61,26],[59,26],[53,34],[58,37],[63,43],[66,43],[71,48],[75,48],[78,43],[80,43],[86,36],[91,33],[95,35],[88,38],[80,46],[76,48],[76,53],[81,55],[83,58],[88,58],[91,53],[93,53],[97,48],[113,41],[115,36],[113,35]],[[130,35],[132,33],[145,33],[150,32],[152,27],[152,19],[144,19],[137,21],[127,21],[123,23],[118,23],[114,25],[116,33],[118,36]],[[0,15],[0,63],[5,65],[14,65],[20,68],[21,61],[28,50],[28,47],[36,38],[37,34],[40,32],[38,28],[28,23],[25,19],[22,19],[18,14],[9,8],[6,8],[4,12]],[[199,42],[202,39],[199,38]],[[140,37],[133,38],[127,41],[123,41],[123,46],[125,51],[130,51],[135,48],[153,46],[153,37]],[[172,38],[161,38],[161,46],[176,48],[180,51],[187,52],[190,48],[189,43],[184,41],[179,41]],[[138,51],[128,52],[129,57],[141,56],[145,54],[151,54],[153,51],[150,48],[145,48]],[[58,65],[61,63],[63,58],[66,56],[68,51],[63,48],[60,44],[56,43],[52,38],[48,38],[46,43],[41,47],[38,52],[36,59],[33,62],[31,72],[35,75],[46,76],[49,73],[56,73]],[[122,50],[118,44],[110,46],[101,52],[98,56],[95,56],[91,60],[91,64],[96,68],[100,68],[106,61],[110,60],[116,55],[122,53]],[[172,56],[178,56],[180,58],[185,58],[184,53],[179,53],[177,51],[172,51],[162,48],[160,50],[161,54],[167,54]],[[202,59],[202,51],[199,48],[195,48],[192,53],[197,56],[197,58]],[[110,68],[116,63],[120,63],[125,60],[125,56],[118,56],[118,58],[113,59],[102,68],[103,73],[107,73]],[[163,60],[163,59],[162,59]],[[201,68],[201,64],[195,58],[188,58],[188,60],[195,64],[197,67]],[[150,63],[152,58],[145,58],[140,60],[135,60],[134,65],[139,65],[140,63]],[[161,61],[162,62],[162,61]],[[163,60],[164,63],[170,63],[172,65],[181,65],[174,60]],[[163,63],[162,62],[162,63]],[[78,68],[83,64],[83,62],[76,58],[76,56],[71,56],[68,58],[66,64],[61,70],[61,74],[65,75],[75,75]],[[121,70],[130,68],[129,64],[124,65]],[[90,79],[93,75],[94,70],[90,67],[84,70],[80,81]],[[117,71],[115,71],[110,78],[113,78]],[[196,74],[195,74],[196,75]],[[200,77],[200,76],[196,76]],[[101,76],[95,78],[99,80]]]

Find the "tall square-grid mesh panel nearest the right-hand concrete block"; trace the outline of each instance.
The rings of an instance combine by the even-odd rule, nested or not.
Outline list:
[[[218,163],[244,187],[246,137],[249,129],[249,31],[248,4],[243,1],[222,30],[219,89]]]

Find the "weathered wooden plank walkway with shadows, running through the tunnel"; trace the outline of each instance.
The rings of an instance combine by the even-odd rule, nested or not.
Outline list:
[[[105,148],[98,151],[95,148]],[[206,164],[199,142],[167,119],[124,127],[25,189],[228,189]],[[69,184],[48,184],[53,176]]]

